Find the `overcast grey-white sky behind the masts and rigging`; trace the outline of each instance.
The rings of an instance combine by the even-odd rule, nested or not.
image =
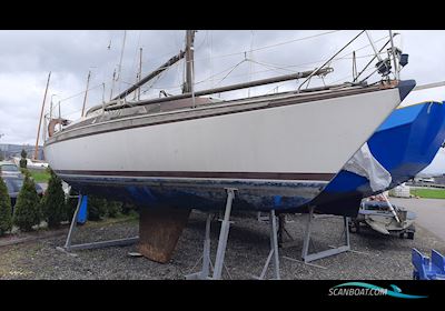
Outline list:
[[[397,31],[396,44],[409,54],[403,79],[418,84],[445,80],[445,31]],[[0,139],[2,143],[34,143],[48,72],[51,71],[46,112],[50,99],[61,100],[63,117],[79,118],[88,71],[91,70],[87,107],[110,97],[112,72],[118,69],[125,31],[0,31]],[[286,31],[208,31],[196,34],[196,89],[261,79],[320,66],[352,38],[357,30],[286,30]],[[370,31],[377,48],[386,42],[388,31]],[[160,66],[184,48],[185,30],[128,30],[123,49],[120,81],[113,93],[136,81],[139,48],[142,52],[142,76]],[[305,39],[306,38],[306,39]],[[304,39],[304,40],[299,40]],[[373,53],[366,36],[362,36],[334,62],[335,71],[325,82],[350,80],[352,51],[356,50],[360,69]],[[246,61],[251,59],[255,62]],[[235,67],[238,64],[237,67]],[[235,67],[235,69],[234,69]],[[162,74],[145,97],[157,97],[161,89],[180,92],[184,62]],[[227,77],[226,77],[227,76]],[[320,84],[316,79],[312,86]],[[150,86],[150,83],[148,84]],[[273,92],[275,86],[243,90],[225,97],[255,96]],[[296,82],[279,84],[279,90],[295,89]],[[52,94],[56,94],[52,97]],[[58,113],[58,109],[56,109]]]

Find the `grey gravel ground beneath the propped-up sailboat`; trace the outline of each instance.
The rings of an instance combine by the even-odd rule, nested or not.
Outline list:
[[[383,237],[372,230],[350,235],[352,249],[364,253],[347,252],[317,260],[314,263],[326,269],[294,262],[283,257],[299,259],[303,247],[304,217],[288,217],[288,230],[297,238],[290,249],[280,249],[281,279],[363,279],[409,280],[413,267],[411,249],[424,253],[436,249],[445,253],[445,242],[417,225],[414,240]],[[43,238],[0,248],[0,279],[184,279],[199,270],[206,215],[194,212],[184,230],[176,253],[166,264],[145,258],[129,257],[136,245],[77,251],[70,255],[56,250],[63,245],[65,235]],[[268,223],[258,222],[256,214],[235,215],[230,227],[226,252],[225,279],[253,279],[259,275],[269,252]],[[324,217],[316,220],[312,251],[320,251],[339,241],[343,219]],[[211,248],[216,254],[219,222],[212,222]],[[119,239],[138,234],[138,221],[119,223],[88,223],[80,227],[73,243]],[[196,265],[196,267],[195,267]],[[271,270],[271,269],[269,269]],[[271,277],[269,271],[268,277]]]

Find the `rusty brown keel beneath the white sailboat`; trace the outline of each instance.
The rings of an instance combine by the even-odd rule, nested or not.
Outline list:
[[[191,210],[171,207],[141,208],[139,252],[160,263],[169,261]]]

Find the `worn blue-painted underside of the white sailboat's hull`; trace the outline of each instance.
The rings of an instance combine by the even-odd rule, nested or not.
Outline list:
[[[60,175],[83,194],[99,194],[130,201],[140,207],[168,204],[177,208],[220,210],[225,188],[236,188],[235,210],[294,211],[314,199],[326,181],[190,180],[166,178],[122,178]]]

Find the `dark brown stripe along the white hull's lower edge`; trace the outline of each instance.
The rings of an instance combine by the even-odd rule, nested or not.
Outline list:
[[[56,170],[68,175],[147,177],[147,178],[215,178],[215,179],[264,179],[264,180],[317,180],[330,181],[335,173],[281,173],[281,172],[186,172],[186,171],[76,171]]]

